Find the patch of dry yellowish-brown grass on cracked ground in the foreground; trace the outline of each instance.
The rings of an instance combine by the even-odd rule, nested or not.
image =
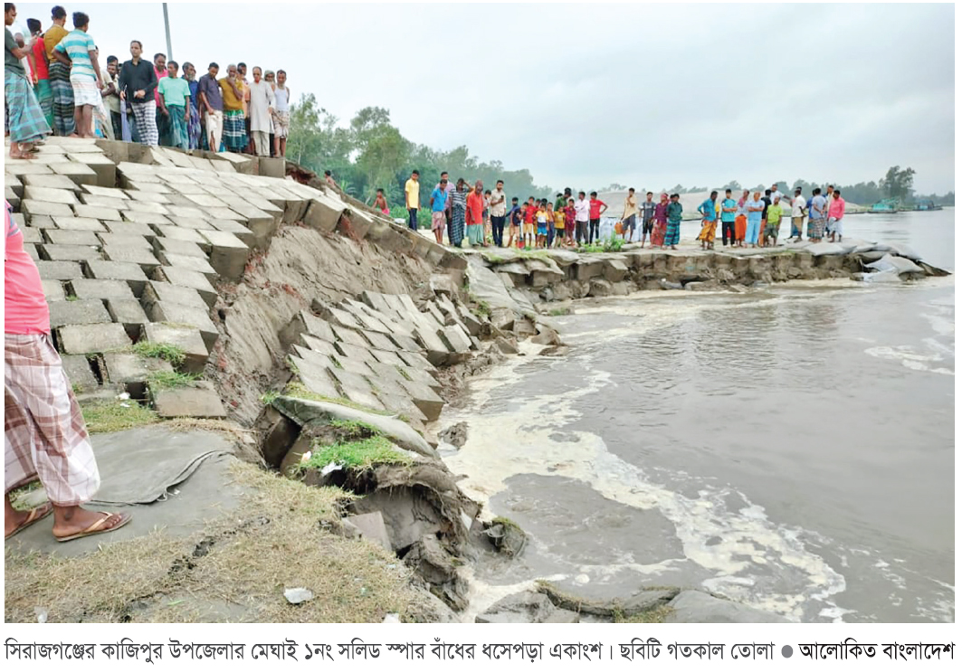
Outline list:
[[[51,622],[353,623],[416,605],[399,560],[328,531],[349,497],[342,490],[241,462],[231,473],[241,506],[201,535],[161,531],[77,559],[7,550],[7,620],[34,622],[42,607]],[[289,605],[284,589],[299,586],[315,599]]]

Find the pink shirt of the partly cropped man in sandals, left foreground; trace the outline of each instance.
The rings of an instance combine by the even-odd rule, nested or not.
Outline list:
[[[4,334],[49,334],[50,311],[43,295],[37,264],[23,249],[23,234],[6,208],[3,244]]]

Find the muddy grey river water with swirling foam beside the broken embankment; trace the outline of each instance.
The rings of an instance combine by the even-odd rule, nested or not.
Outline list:
[[[952,215],[850,216],[846,234],[954,269]],[[567,356],[513,358],[443,415],[468,421],[445,451],[462,487],[530,537],[475,564],[471,611],[550,579],[953,621],[954,296],[950,276],[578,302],[555,318]]]

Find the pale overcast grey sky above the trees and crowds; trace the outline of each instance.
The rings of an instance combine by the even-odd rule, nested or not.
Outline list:
[[[49,26],[52,3],[18,3]],[[64,4],[101,54],[166,51],[161,3]],[[230,14],[225,10],[230,8]],[[550,187],[877,180],[954,184],[952,5],[169,4],[173,56],[284,68],[342,123]],[[71,21],[68,15],[67,25]],[[435,59],[437,69],[425,67]]]

